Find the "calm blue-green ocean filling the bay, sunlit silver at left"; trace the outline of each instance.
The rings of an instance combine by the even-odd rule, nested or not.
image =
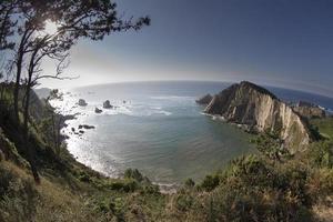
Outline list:
[[[52,104],[67,121],[68,149],[80,162],[109,176],[137,168],[162,185],[191,178],[200,181],[242,154],[255,152],[248,133],[202,114],[195,99],[218,93],[226,82],[132,82],[63,91]],[[333,99],[280,88],[268,88],[285,101],[305,100],[333,110]],[[77,105],[84,99],[87,107]],[[115,109],[102,109],[110,100]],[[102,109],[95,113],[94,109]],[[77,134],[80,124],[94,125]]]

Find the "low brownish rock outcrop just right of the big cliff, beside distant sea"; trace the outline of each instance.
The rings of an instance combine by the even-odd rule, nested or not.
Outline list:
[[[293,110],[306,119],[326,117],[326,112],[324,109],[305,101],[300,101],[295,107],[293,107]]]

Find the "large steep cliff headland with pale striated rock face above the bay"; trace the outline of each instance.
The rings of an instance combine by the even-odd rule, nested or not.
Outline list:
[[[307,127],[300,115],[270,91],[250,82],[233,84],[214,95],[204,112],[259,132],[276,131],[292,152],[310,142]]]

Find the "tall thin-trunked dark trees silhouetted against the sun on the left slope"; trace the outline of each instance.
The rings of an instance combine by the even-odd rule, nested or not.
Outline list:
[[[40,1],[27,0],[20,4],[20,21],[18,26],[19,44],[16,49],[17,78],[13,92],[14,113],[19,122],[19,91],[21,89],[22,68],[27,68],[24,81],[24,104],[23,104],[23,134],[29,153],[29,162],[36,181],[39,181],[34,164],[32,148],[29,145],[29,103],[30,91],[42,78],[63,79],[60,77],[69,50],[80,39],[102,40],[105,34],[139,30],[150,23],[148,17],[137,21],[123,20],[117,13],[117,4],[109,0],[53,0]],[[58,26],[56,33],[42,33],[46,29],[46,21],[54,22]],[[41,69],[46,59],[58,61],[58,69],[54,75],[44,74]],[[24,63],[26,61],[26,63]]]

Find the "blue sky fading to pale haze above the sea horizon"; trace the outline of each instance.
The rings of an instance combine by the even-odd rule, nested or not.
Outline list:
[[[123,81],[242,81],[333,98],[332,0],[119,0],[142,30],[81,41],[65,75],[42,87]],[[44,63],[52,72],[54,64]]]

